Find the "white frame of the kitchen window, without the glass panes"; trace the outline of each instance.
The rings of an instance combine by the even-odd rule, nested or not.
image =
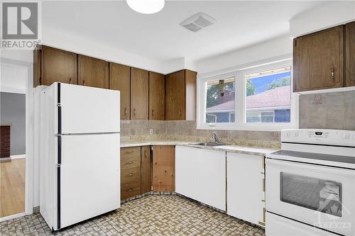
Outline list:
[[[246,75],[276,69],[280,67],[291,67],[291,104],[290,123],[247,123],[246,122]],[[251,65],[248,68],[236,69],[234,72],[216,74],[209,77],[198,77],[197,79],[197,129],[202,130],[261,130],[280,131],[289,128],[298,128],[298,96],[293,93],[292,60],[278,62],[267,62],[266,64]],[[219,79],[235,79],[235,101],[234,123],[205,123],[206,120],[206,92],[207,82]]]

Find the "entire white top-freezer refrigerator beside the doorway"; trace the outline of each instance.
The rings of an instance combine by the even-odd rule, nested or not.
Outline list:
[[[54,83],[40,94],[40,214],[51,230],[120,207],[119,91]]]

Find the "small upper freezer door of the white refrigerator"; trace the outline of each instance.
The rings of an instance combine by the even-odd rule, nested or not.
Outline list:
[[[60,84],[62,133],[119,132],[119,91]]]

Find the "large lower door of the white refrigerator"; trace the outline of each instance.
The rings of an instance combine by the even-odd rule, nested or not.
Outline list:
[[[62,135],[60,227],[120,207],[119,134]]]

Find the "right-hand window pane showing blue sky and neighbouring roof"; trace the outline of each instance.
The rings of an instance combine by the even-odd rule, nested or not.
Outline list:
[[[291,67],[246,75],[246,122],[290,123]]]

